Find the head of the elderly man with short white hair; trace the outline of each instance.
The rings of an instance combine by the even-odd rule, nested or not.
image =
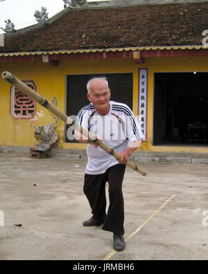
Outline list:
[[[103,80],[92,82],[91,93],[87,94],[87,98],[101,115],[106,115],[110,111],[110,89],[107,89]]]

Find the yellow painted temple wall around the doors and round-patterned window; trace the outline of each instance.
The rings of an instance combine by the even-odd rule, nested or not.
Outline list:
[[[65,111],[66,75],[89,73],[133,73],[133,111],[138,108],[138,69],[148,69],[148,128],[147,142],[141,145],[144,151],[168,152],[206,152],[207,147],[165,147],[153,146],[153,90],[155,72],[208,71],[208,57],[162,57],[147,58],[145,64],[136,64],[130,58],[112,58],[105,60],[66,60],[59,66],[46,66],[42,62],[0,62],[0,73],[10,71],[20,80],[33,80],[37,93],[49,101],[53,95],[58,100],[58,108]],[[113,91],[112,91],[113,92]],[[37,104],[37,113],[33,120],[14,120],[10,116],[10,84],[0,79],[0,145],[26,145],[35,143],[34,126],[54,122],[49,111]],[[84,95],[84,94],[83,94]],[[72,113],[74,114],[74,113]],[[58,128],[59,147],[85,149],[82,144],[64,143],[64,124]]]

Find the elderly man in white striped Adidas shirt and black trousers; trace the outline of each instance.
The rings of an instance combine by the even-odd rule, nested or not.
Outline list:
[[[116,251],[125,248],[124,203],[122,193],[125,164],[130,155],[141,145],[143,134],[139,124],[126,104],[110,101],[111,91],[105,78],[93,78],[87,83],[87,98],[91,102],[78,113],[77,122],[99,140],[121,155],[121,160],[107,154],[94,143],[75,131],[75,138],[87,145],[87,167],[84,192],[92,209],[92,217],[83,226],[101,226],[113,232]],[[105,183],[109,184],[110,205],[106,209]]]

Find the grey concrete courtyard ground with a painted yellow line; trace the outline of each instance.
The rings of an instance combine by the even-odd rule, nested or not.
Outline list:
[[[0,154],[1,260],[207,260],[208,165],[137,163],[123,181],[126,248],[83,227],[86,160]],[[107,193],[107,185],[106,185]]]

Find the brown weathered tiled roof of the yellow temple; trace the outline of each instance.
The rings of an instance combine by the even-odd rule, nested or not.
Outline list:
[[[207,2],[68,10],[49,24],[8,35],[5,46],[0,47],[0,56],[38,51],[202,46],[202,32],[208,29],[207,15]]]

